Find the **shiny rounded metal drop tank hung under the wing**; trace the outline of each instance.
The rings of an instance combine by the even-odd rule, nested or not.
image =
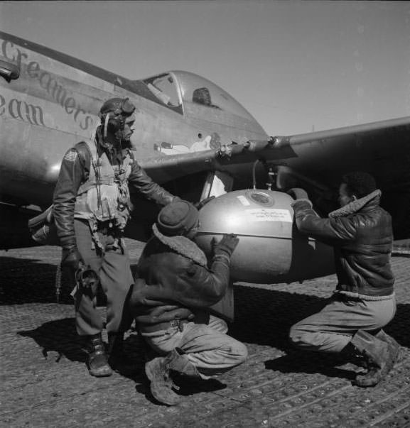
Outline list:
[[[271,284],[334,273],[333,248],[298,233],[292,202],[288,194],[271,190],[223,194],[200,210],[195,239],[209,255],[212,238],[237,234],[230,265],[234,281]]]

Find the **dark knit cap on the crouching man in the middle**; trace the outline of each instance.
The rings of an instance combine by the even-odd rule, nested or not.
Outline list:
[[[161,209],[156,226],[166,236],[185,235],[197,224],[198,218],[198,209],[193,204],[178,200]]]

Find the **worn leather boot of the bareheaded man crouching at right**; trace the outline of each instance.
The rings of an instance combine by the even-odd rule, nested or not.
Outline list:
[[[378,335],[389,339],[384,331]],[[356,376],[356,385],[362,387],[377,385],[392,370],[399,356],[400,346],[393,338],[391,339],[392,341],[384,341],[364,330],[358,330],[353,336],[350,343],[362,354],[367,364],[367,373]]]

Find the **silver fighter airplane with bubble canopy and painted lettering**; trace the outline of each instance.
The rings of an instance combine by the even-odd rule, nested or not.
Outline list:
[[[133,150],[158,184],[200,210],[198,243],[238,234],[235,280],[293,282],[334,272],[331,248],[298,235],[291,187],[315,210],[337,208],[340,177],[365,170],[382,190],[394,237],[410,236],[410,116],[292,136],[268,136],[230,94],[191,72],[129,79],[0,32],[0,248],[36,245],[27,221],[52,203],[68,148],[90,138],[112,97],[136,106]],[[149,237],[158,209],[133,195],[126,236]]]

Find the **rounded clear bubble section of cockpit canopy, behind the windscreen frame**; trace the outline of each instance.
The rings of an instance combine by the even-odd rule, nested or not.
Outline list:
[[[237,116],[254,121],[254,118],[238,101],[210,80],[190,72],[174,71],[178,80],[183,103],[207,106],[210,109],[229,111]]]

